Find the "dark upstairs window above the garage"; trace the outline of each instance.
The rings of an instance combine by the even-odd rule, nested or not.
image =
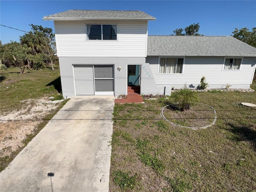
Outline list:
[[[116,40],[116,25],[86,25],[89,40]]]

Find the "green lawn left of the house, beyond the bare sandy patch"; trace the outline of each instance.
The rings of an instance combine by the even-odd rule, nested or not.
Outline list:
[[[1,112],[21,109],[21,101],[26,99],[50,97],[61,92],[60,71],[26,70],[19,74],[18,68],[8,68],[1,74],[0,82]]]

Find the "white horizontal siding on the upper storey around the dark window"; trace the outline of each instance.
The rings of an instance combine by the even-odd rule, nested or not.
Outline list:
[[[86,21],[55,21],[59,57],[146,57],[147,21],[117,24],[118,40],[86,40]]]

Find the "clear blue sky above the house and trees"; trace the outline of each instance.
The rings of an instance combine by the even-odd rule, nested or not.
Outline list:
[[[30,31],[29,24],[54,29],[53,21],[43,21],[46,15],[70,9],[80,10],[142,10],[156,18],[149,21],[149,35],[170,35],[176,28],[199,23],[200,34],[230,36],[235,28],[256,27],[256,0],[253,1],[86,1],[86,0],[0,0],[0,23]],[[2,44],[16,40],[24,32],[0,26]]]

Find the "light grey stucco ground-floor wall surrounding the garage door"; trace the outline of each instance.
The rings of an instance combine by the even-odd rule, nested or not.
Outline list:
[[[114,95],[127,94],[127,65],[145,64],[144,57],[59,57],[62,94],[64,98],[75,96],[73,65],[114,65]],[[119,71],[118,67],[122,69]]]

